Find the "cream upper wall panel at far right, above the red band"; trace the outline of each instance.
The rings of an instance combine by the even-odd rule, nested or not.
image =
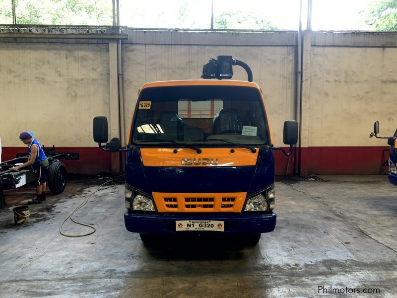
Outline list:
[[[311,64],[309,146],[384,145],[367,135],[397,128],[397,48],[313,47]]]

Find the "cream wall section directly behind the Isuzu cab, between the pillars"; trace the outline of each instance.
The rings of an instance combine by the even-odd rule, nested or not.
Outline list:
[[[199,78],[209,58],[231,55],[247,63],[263,89],[275,144],[282,146],[283,122],[294,119],[296,33],[130,31],[123,42],[125,126],[130,126],[137,90],[143,82]],[[247,73],[234,67],[234,79]],[[129,129],[126,129],[126,134]],[[287,158],[276,153],[279,173]],[[289,167],[293,169],[293,163]]]

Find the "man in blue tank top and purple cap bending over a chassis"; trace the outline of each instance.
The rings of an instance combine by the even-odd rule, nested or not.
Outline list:
[[[24,164],[18,165],[15,168],[19,170],[28,165],[33,166],[36,176],[35,185],[37,196],[36,199],[29,201],[28,204],[39,204],[46,200],[47,177],[45,167],[48,166],[48,159],[39,141],[33,139],[32,136],[33,133],[27,131],[19,134],[19,139],[23,144],[28,146],[29,159]]]

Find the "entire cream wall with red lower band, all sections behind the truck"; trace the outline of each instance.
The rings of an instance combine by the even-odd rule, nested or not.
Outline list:
[[[397,94],[396,33],[305,32],[302,73],[301,173],[380,173],[382,140],[369,139],[373,122],[391,135]],[[127,138],[140,86],[148,81],[199,78],[208,58],[246,62],[265,94],[276,146],[282,125],[295,118],[296,44],[293,32],[129,30],[122,44],[124,131]],[[92,40],[0,40],[0,136],[3,160],[24,151],[18,133],[36,132],[46,146],[80,152],[71,172],[110,171],[111,154],[92,140],[92,118],[111,120],[118,137],[117,48]],[[246,79],[234,68],[235,79]],[[299,154],[298,154],[299,153]],[[115,154],[112,153],[113,157]],[[276,154],[278,173],[287,158]]]

